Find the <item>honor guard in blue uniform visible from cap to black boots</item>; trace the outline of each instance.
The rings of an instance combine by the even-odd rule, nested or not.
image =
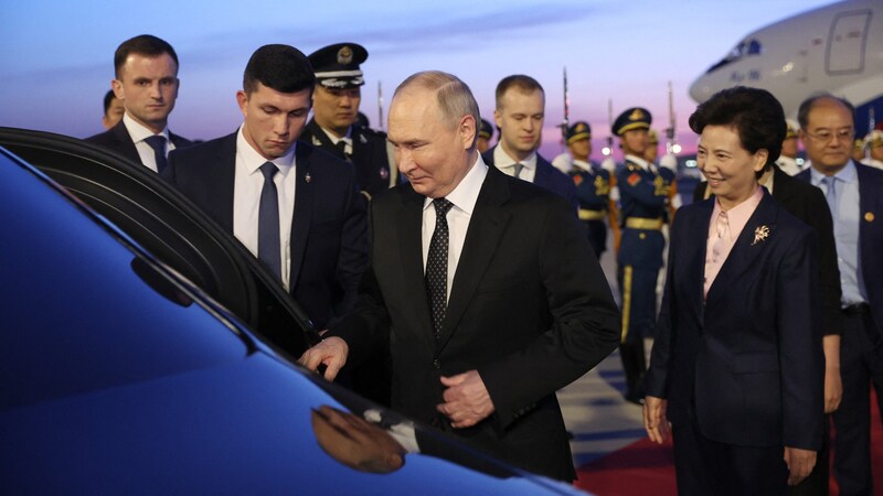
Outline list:
[[[617,281],[621,293],[623,331],[619,354],[626,374],[626,399],[640,403],[646,369],[643,337],[651,336],[656,320],[656,287],[666,245],[669,185],[652,163],[643,159],[652,117],[634,107],[614,121],[625,164],[616,176],[619,188],[621,238],[617,254]]]

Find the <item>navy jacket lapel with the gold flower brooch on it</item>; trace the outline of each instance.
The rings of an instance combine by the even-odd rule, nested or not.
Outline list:
[[[764,197],[760,204],[748,218],[747,224],[742,229],[742,233],[726,257],[721,271],[714,278],[714,283],[709,288],[709,294],[705,299],[711,301],[717,292],[725,291],[732,284],[732,281],[752,267],[754,259],[769,244],[770,236],[775,236],[776,230],[776,203],[769,193],[764,190]],[[763,234],[766,231],[766,235]]]

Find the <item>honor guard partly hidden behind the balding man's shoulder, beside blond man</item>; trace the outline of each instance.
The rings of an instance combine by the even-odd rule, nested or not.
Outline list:
[[[567,128],[567,149],[573,158],[573,169],[568,174],[576,186],[579,220],[595,256],[600,258],[607,246],[605,218],[610,201],[610,173],[588,160],[592,154],[592,127],[588,122],[577,121]]]

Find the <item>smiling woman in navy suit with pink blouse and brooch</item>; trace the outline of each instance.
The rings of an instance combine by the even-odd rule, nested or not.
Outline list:
[[[785,137],[773,95],[724,89],[690,128],[715,197],[671,228],[645,427],[662,442],[671,420],[681,495],[785,495],[822,439],[817,236],[757,182]]]

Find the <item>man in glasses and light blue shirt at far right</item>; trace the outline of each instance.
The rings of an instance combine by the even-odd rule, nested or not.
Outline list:
[[[883,172],[850,160],[854,108],[822,94],[800,105],[800,140],[812,168],[797,177],[819,186],[833,216],[841,280],[843,398],[833,413],[834,477],[842,495],[873,494],[870,387],[883,412]]]

